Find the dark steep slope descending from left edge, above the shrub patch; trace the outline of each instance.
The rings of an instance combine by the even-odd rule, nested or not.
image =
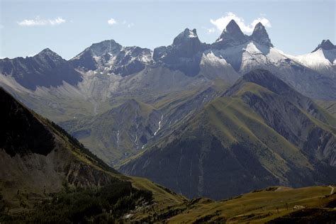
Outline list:
[[[48,201],[49,197],[55,194],[56,197],[67,194],[70,196],[73,194],[72,190],[78,190],[78,196],[82,196],[81,192],[85,191],[93,197],[91,198],[93,201],[99,198],[93,196],[94,192],[98,192],[97,189],[108,190],[110,196],[115,194],[114,199],[108,199],[109,203],[116,203],[117,201],[113,200],[117,200],[119,196],[129,196],[123,200],[128,204],[131,202],[131,207],[118,208],[123,212],[133,209],[138,203],[145,203],[152,196],[155,203],[167,206],[184,201],[184,197],[147,179],[125,177],[116,172],[65,130],[30,111],[2,88],[0,88],[0,104],[0,203],[4,200],[5,206],[9,209],[25,213],[29,208],[35,212],[35,209],[40,207],[40,203],[35,204],[36,200]],[[152,193],[147,194],[149,191]],[[133,196],[129,195],[132,192]],[[142,196],[145,195],[150,197],[143,201]],[[53,200],[50,206],[62,203],[57,200]],[[77,199],[74,200],[69,203],[77,203]],[[94,206],[106,207],[97,204]],[[84,207],[76,212],[81,213],[81,209]],[[69,211],[72,211],[71,206],[67,212]],[[0,216],[3,215],[2,212],[0,211]],[[90,212],[99,213],[92,210]],[[67,213],[62,215],[66,216]],[[122,213],[117,214],[118,217],[120,215]],[[84,216],[80,218],[83,219]]]

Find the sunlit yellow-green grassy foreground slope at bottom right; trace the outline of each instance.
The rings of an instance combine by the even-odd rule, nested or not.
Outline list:
[[[131,211],[126,223],[332,223],[336,218],[336,186],[292,189],[270,186],[234,198],[194,198],[179,204],[152,204]],[[295,220],[295,219],[294,219]]]

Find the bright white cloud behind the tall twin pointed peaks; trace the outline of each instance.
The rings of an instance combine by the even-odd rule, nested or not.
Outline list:
[[[267,18],[265,18],[264,16],[256,18],[256,19],[254,19],[254,21],[252,21],[252,23],[247,24],[247,23],[245,23],[245,21],[242,17],[239,17],[239,16],[235,15],[235,13],[232,13],[232,12],[228,12],[228,13],[226,13],[226,16],[222,16],[222,17],[217,18],[215,20],[211,19],[210,22],[213,23],[213,25],[220,32],[222,32],[224,30],[224,28],[228,25],[228,23],[230,23],[231,20],[235,20],[235,22],[238,24],[238,26],[240,27],[240,29],[244,33],[252,33],[253,29],[254,29],[254,26],[259,22],[261,22],[262,25],[264,25],[266,27],[271,27],[271,22],[269,22],[269,20]],[[211,31],[210,31],[210,29],[208,30],[209,33]]]

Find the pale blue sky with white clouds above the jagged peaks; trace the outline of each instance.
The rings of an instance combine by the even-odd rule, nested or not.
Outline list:
[[[274,46],[291,55],[335,44],[335,1],[17,1],[0,0],[0,57],[26,57],[46,47],[65,59],[92,43],[169,45],[184,28],[213,43],[230,18],[245,33],[267,26]],[[109,21],[109,23],[108,23]]]

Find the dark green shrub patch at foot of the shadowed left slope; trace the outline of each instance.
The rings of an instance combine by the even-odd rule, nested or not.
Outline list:
[[[96,189],[74,189],[52,195],[30,212],[6,215],[0,223],[116,223],[143,203],[152,202],[152,192],[116,181]]]

